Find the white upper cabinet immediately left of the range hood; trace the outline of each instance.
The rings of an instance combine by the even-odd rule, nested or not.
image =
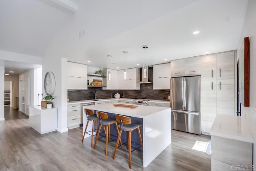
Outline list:
[[[139,68],[127,69],[127,77],[124,79],[124,70],[118,71],[118,89],[140,89]]]

